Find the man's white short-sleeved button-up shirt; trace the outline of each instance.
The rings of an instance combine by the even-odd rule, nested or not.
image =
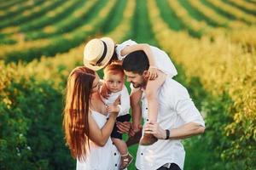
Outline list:
[[[195,108],[194,102],[189,98],[187,89],[181,84],[166,78],[166,82],[160,87],[159,110],[157,122],[164,129],[180,127],[185,123],[196,122],[205,126],[200,112]],[[148,106],[143,93],[143,118],[148,121]],[[172,130],[171,130],[172,133]],[[139,170],[155,170],[166,163],[176,163],[183,169],[185,150],[180,139],[159,139],[149,146],[139,145],[137,150],[136,167]]]

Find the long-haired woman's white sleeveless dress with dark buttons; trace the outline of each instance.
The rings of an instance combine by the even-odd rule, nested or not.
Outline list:
[[[97,111],[91,111],[91,115],[100,128],[107,122],[108,116]],[[103,147],[90,141],[90,152],[85,161],[77,160],[77,170],[118,170],[119,162],[119,151],[109,137]]]

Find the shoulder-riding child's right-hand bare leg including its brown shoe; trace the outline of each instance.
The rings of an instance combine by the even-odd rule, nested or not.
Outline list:
[[[158,96],[157,92],[160,86],[166,81],[166,74],[158,71],[158,77],[152,81],[148,80],[146,87],[146,98],[148,100],[148,121],[157,122],[158,116]],[[153,134],[144,133],[140,144],[149,145],[154,144],[158,139]]]

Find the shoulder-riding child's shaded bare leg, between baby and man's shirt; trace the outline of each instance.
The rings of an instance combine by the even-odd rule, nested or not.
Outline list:
[[[141,118],[142,118],[142,108],[141,99],[143,91],[140,89],[133,89],[131,91],[131,115],[132,115],[132,129],[135,133],[140,131]]]

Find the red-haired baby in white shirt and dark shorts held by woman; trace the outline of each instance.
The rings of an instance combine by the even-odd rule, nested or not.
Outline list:
[[[102,98],[102,100],[104,101],[105,105],[107,105],[108,112],[119,113],[118,117],[116,118],[118,122],[129,122],[131,119],[129,114],[130,96],[124,82],[125,73],[122,65],[111,64],[104,69],[104,81],[102,88],[108,90],[108,99]],[[117,99],[120,101],[119,105],[114,104]],[[127,145],[122,139],[122,133],[119,133],[116,124],[113,127],[111,138],[113,144],[115,144],[121,155],[120,169],[125,169],[129,166],[133,157],[129,154]]]

